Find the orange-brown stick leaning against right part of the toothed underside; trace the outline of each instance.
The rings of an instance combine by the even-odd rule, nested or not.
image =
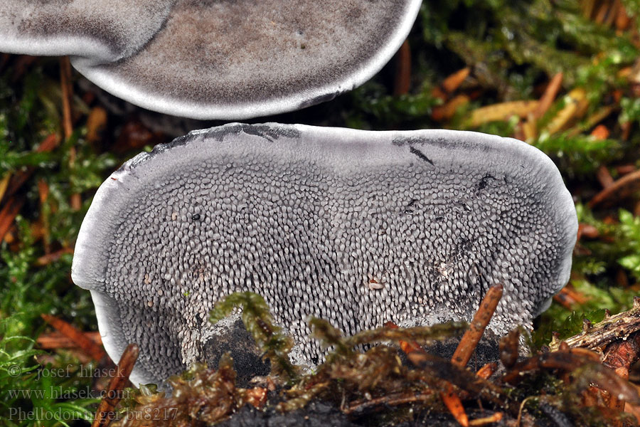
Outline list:
[[[491,317],[493,317],[496,307],[498,307],[498,302],[500,302],[502,293],[503,287],[499,283],[498,285],[491,286],[491,288],[486,291],[486,295],[484,295],[484,298],[480,303],[480,307],[474,316],[474,320],[469,325],[469,329],[464,332],[464,335],[460,340],[460,344],[458,344],[458,347],[451,358],[451,362],[453,364],[456,364],[459,367],[466,367],[466,364],[469,363],[471,354],[474,353],[476,345],[480,342],[480,338],[482,337],[482,334],[484,334],[486,326],[489,325],[489,321],[491,320]]]

